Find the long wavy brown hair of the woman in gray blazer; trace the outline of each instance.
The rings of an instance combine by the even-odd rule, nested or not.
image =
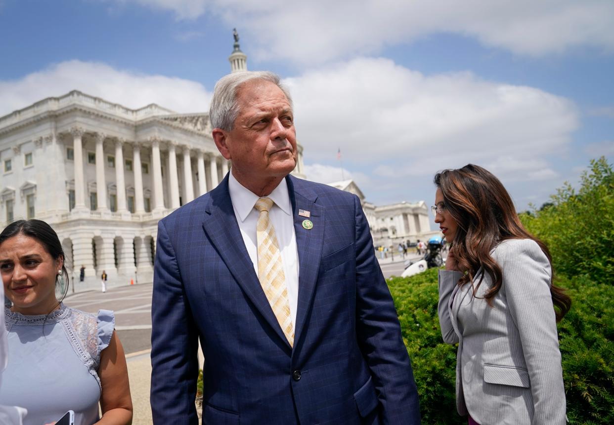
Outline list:
[[[482,167],[468,164],[460,169],[445,170],[435,175],[435,185],[441,190],[446,210],[457,223],[452,244],[454,256],[467,273],[458,281],[462,286],[473,281],[480,268],[480,275],[473,296],[480,287],[485,274],[492,280],[492,286],[484,299],[492,307],[492,299],[499,293],[503,282],[501,267],[490,252],[497,243],[507,239],[532,239],[542,249],[550,262],[550,294],[556,312],[556,320],[569,312],[572,301],[565,290],[554,286],[554,269],[548,247],[523,227],[510,194],[491,172]]]

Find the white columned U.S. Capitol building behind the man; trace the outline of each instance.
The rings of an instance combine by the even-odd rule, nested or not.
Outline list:
[[[246,69],[238,44],[229,59],[232,71]],[[90,284],[103,270],[111,285],[150,282],[158,220],[212,190],[229,167],[208,113],[129,109],[74,90],[0,117],[0,223],[50,223],[76,281],[84,266]],[[293,174],[305,178],[301,145]],[[371,229],[381,227],[379,207],[360,196]]]

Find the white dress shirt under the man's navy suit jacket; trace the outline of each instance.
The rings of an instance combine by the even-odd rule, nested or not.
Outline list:
[[[254,209],[256,201],[260,197],[246,189],[239,183],[235,176],[230,172],[228,176],[228,191],[230,191],[230,201],[235,210],[236,221],[239,223],[239,230],[243,236],[243,242],[247,248],[249,258],[254,264],[254,270],[258,275],[258,247],[256,239],[256,224],[258,222],[258,211]],[[269,212],[269,220],[275,229],[281,259],[284,263],[284,275],[288,292],[288,302],[290,304],[290,316],[296,331],[297,323],[297,304],[298,304],[298,250],[297,236],[294,231],[294,219],[292,217],[292,204],[286,179],[267,197],[273,200],[273,207]]]

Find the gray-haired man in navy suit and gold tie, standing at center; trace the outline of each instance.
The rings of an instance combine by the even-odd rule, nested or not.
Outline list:
[[[290,94],[270,72],[216,85],[231,170],[158,224],[154,424],[419,424],[410,359],[356,195],[290,175]]]

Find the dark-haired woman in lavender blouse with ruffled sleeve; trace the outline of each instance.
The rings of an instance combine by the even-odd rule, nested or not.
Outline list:
[[[68,281],[68,272],[49,224],[20,220],[2,231],[0,274],[12,303],[4,309],[9,361],[0,404],[26,408],[24,425],[53,423],[68,410],[77,425],[130,424],[130,385],[113,312],[85,313],[56,299],[56,282],[60,275]]]

